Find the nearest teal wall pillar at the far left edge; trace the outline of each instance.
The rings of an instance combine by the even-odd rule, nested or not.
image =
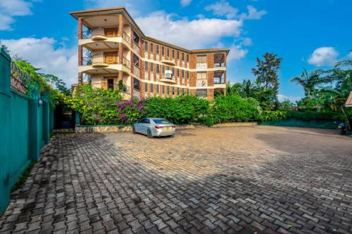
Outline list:
[[[10,144],[11,57],[0,48],[0,214],[10,201],[8,157]]]

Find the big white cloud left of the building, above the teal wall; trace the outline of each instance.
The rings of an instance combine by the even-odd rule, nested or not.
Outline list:
[[[10,50],[11,56],[18,55],[34,67],[41,68],[39,72],[54,74],[70,86],[77,83],[78,62],[77,47],[57,47],[53,38],[32,37],[1,40]]]

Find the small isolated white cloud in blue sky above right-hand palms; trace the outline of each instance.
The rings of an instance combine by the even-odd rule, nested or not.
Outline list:
[[[334,47],[320,47],[313,51],[308,63],[317,67],[334,65],[337,56],[339,56],[339,52]]]

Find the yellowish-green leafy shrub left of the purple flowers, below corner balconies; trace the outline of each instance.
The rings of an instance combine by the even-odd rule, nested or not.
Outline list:
[[[61,95],[61,100],[73,110],[80,112],[82,124],[122,123],[116,102],[122,97],[119,91],[77,87],[75,96]]]

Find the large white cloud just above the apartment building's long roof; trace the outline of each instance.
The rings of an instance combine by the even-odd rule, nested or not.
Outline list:
[[[217,18],[173,20],[174,16],[157,11],[135,20],[146,35],[185,48],[204,48],[217,44],[223,37],[238,37],[243,25],[240,20]]]

